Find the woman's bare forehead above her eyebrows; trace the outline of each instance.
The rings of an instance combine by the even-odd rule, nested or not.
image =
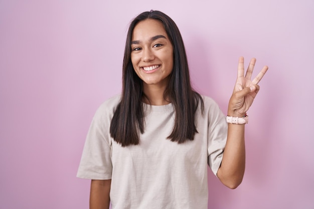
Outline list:
[[[132,33],[132,41],[145,41],[157,35],[164,35],[168,39],[167,32],[160,21],[147,19],[144,21],[140,21],[134,27]]]

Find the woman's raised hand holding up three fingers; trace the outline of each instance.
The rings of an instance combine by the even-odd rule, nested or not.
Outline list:
[[[257,84],[265,75],[268,67],[264,66],[263,69],[258,73],[258,75],[251,81],[255,62],[256,59],[252,58],[244,77],[244,58],[239,58],[238,77],[233,89],[232,96],[229,100],[229,116],[244,116],[249,107],[252,105],[253,100],[259,91],[259,86]]]

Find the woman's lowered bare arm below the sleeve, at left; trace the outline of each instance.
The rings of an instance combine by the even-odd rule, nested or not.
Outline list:
[[[90,209],[109,209],[111,179],[92,180],[90,184]]]

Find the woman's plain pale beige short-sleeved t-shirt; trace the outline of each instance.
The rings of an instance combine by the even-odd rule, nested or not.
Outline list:
[[[217,175],[227,139],[225,115],[209,97],[198,107],[194,140],[167,137],[173,130],[172,104],[144,105],[144,133],[138,145],[122,147],[109,127],[120,95],[96,111],[87,134],[77,176],[111,179],[113,209],[207,209],[207,164]]]

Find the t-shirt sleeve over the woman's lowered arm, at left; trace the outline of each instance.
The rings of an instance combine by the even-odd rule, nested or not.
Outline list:
[[[111,179],[111,117],[103,104],[96,111],[87,133],[77,177]]]

